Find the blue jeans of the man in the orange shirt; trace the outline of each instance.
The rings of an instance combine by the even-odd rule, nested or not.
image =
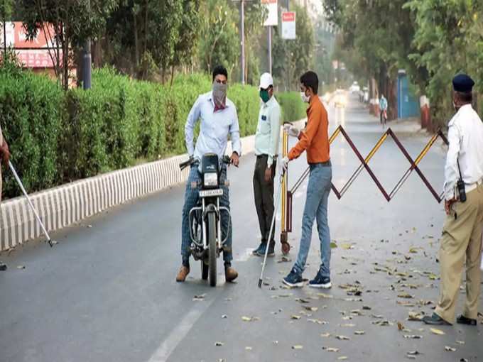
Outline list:
[[[310,241],[312,239],[312,227],[317,218],[317,229],[320,239],[320,274],[322,277],[330,277],[330,231],[327,221],[327,203],[332,181],[332,167],[330,165],[310,165],[308,177],[307,199],[302,219],[302,238],[297,260],[293,268],[301,275],[305,269]]]

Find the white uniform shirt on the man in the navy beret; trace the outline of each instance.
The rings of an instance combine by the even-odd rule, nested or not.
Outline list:
[[[444,196],[455,197],[456,182],[460,178],[457,160],[460,161],[462,180],[472,185],[483,178],[483,123],[471,104],[462,106],[448,124],[445,165]]]

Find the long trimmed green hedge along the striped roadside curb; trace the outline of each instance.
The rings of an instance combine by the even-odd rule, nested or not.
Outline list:
[[[211,89],[205,75],[179,76],[172,86],[141,82],[112,69],[94,70],[92,89],[63,92],[51,79],[0,68],[0,124],[28,192],[109,170],[185,153],[186,117]],[[255,133],[256,87],[233,84],[241,136]],[[305,116],[298,93],[277,94],[283,119]],[[4,172],[4,197],[20,194]]]

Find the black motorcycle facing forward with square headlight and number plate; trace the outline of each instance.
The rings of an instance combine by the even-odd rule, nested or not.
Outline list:
[[[201,277],[210,285],[217,285],[217,258],[224,250],[229,229],[232,227],[232,216],[227,207],[219,205],[223,195],[222,186],[229,186],[229,182],[221,183],[222,168],[219,167],[218,155],[207,153],[201,160],[190,160],[180,163],[180,170],[188,166],[198,167],[201,162],[201,182],[192,182],[192,189],[199,189],[198,202],[189,212],[191,245],[190,252],[195,260],[200,260]],[[229,165],[230,158],[225,155],[222,163]],[[222,237],[222,213],[227,213],[229,222],[225,237]]]

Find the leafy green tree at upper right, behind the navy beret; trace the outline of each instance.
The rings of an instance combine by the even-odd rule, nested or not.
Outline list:
[[[406,8],[416,16],[416,51],[409,58],[427,68],[433,119],[443,126],[452,113],[452,77],[467,72],[476,80],[477,91],[483,92],[483,3],[409,1]]]

